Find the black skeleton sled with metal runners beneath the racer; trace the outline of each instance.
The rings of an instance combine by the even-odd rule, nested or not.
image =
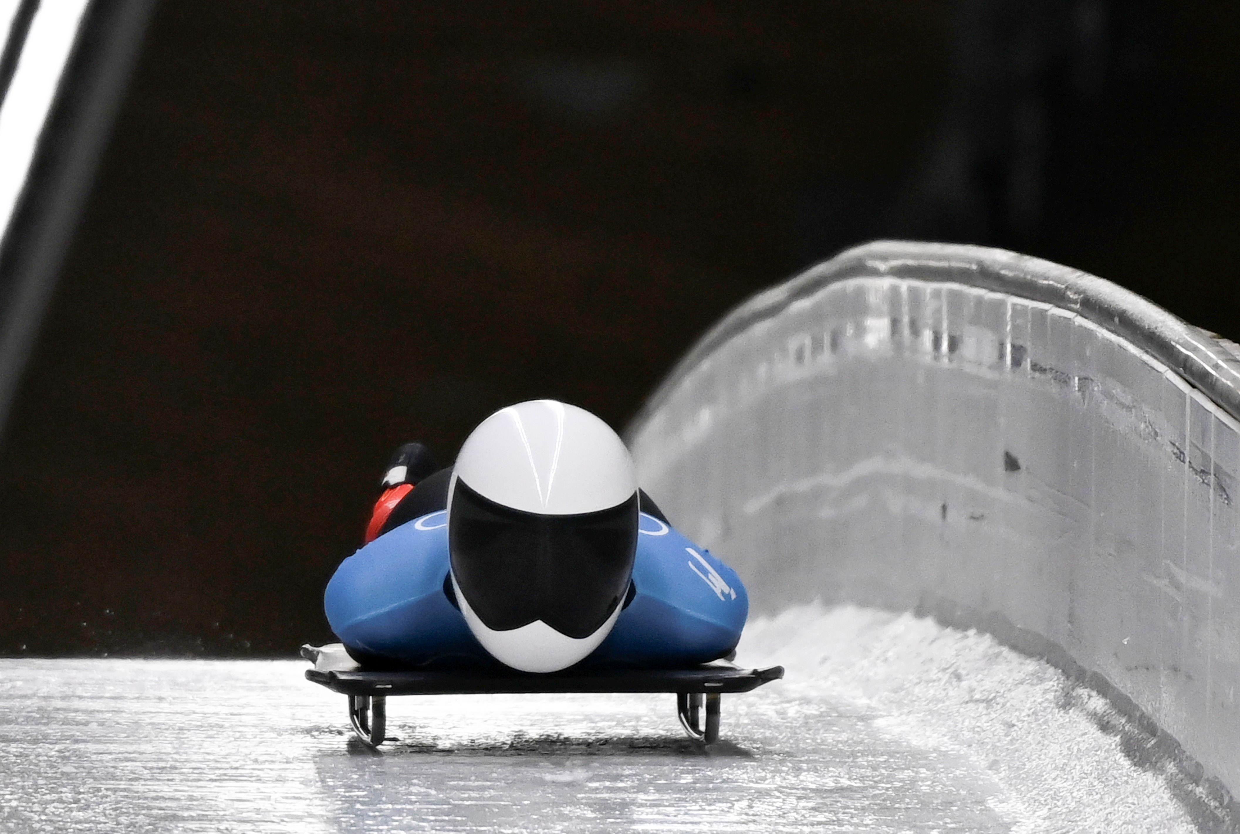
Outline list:
[[[711,745],[719,740],[722,695],[756,689],[784,677],[784,667],[742,669],[715,661],[687,669],[594,669],[554,674],[505,670],[365,672],[331,668],[335,647],[303,646],[301,657],[315,664],[306,679],[348,698],[353,732],[371,747],[387,737],[391,695],[480,695],[500,693],[675,693],[676,714],[691,739]],[[335,657],[342,649],[332,652]],[[704,720],[703,720],[704,719]]]

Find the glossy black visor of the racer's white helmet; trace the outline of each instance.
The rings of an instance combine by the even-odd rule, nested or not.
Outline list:
[[[461,594],[487,628],[542,620],[565,637],[589,637],[629,590],[637,493],[594,513],[543,516],[497,504],[458,478],[448,549]]]

